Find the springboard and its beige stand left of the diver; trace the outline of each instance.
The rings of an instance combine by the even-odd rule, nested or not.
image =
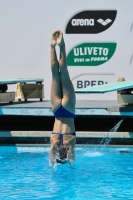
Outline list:
[[[0,102],[14,102],[15,98],[24,99],[44,98],[44,85],[42,78],[19,78],[0,80]],[[8,85],[17,84],[16,91],[8,92]]]

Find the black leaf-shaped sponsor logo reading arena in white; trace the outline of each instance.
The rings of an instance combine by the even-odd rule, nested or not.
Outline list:
[[[67,24],[66,33],[101,33],[115,21],[116,10],[87,10],[73,16]]]

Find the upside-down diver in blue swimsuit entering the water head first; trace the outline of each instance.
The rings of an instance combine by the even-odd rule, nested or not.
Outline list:
[[[56,45],[60,48],[60,58],[57,60]],[[74,125],[75,116],[75,92],[70,80],[65,42],[60,30],[52,34],[51,39],[51,106],[55,116],[53,132],[50,137],[50,162],[70,165],[75,159],[74,147],[76,133]]]

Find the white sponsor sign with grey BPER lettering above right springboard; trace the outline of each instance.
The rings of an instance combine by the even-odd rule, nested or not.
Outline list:
[[[72,78],[72,83],[74,85],[74,89],[82,89],[86,87],[93,87],[97,85],[107,84],[112,82],[112,78],[114,78],[115,74],[81,74],[77,75],[75,78]]]

